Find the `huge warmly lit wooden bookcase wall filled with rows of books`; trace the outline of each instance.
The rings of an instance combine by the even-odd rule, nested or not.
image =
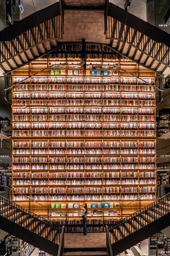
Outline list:
[[[51,200],[113,201],[122,207],[142,194],[143,206],[148,204],[156,186],[154,87],[119,71],[111,76],[112,69],[101,63],[94,70],[89,64],[87,71],[95,75],[82,75],[68,63],[56,65],[59,75],[47,70],[13,88],[13,188],[48,208]],[[32,66],[35,73],[36,63]],[[28,73],[19,74],[14,73],[14,84]],[[153,73],[140,74],[154,84]],[[13,194],[13,200],[22,199]]]

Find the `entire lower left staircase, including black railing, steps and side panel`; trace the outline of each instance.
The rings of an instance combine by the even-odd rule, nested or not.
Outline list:
[[[0,229],[45,252],[57,255],[62,224],[39,215],[0,196]]]

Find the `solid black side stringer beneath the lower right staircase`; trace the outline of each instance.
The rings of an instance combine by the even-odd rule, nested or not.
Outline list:
[[[113,256],[118,255],[168,226],[170,226],[170,213],[160,217],[152,223],[147,224],[125,238],[114,242],[112,244]]]

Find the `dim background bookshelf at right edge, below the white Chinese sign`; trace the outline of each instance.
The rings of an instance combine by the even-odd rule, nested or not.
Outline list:
[[[158,185],[168,185],[169,186],[169,172],[170,172],[170,165],[157,166]],[[161,184],[162,179],[163,179],[163,184]]]

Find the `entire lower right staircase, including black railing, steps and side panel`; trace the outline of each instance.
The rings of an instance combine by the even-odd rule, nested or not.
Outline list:
[[[113,255],[170,226],[170,193],[109,226]]]

